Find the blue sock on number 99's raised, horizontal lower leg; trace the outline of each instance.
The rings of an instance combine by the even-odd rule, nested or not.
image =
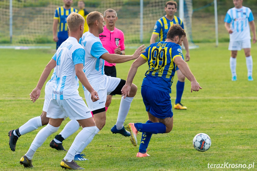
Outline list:
[[[139,132],[146,132],[151,134],[163,134],[166,132],[166,126],[161,123],[134,123],[135,128]]]

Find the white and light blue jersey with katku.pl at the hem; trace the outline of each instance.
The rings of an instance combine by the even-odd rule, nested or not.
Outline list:
[[[56,61],[56,80],[52,98],[63,100],[79,97],[79,79],[75,65],[85,63],[85,50],[74,37],[69,37],[52,57]]]

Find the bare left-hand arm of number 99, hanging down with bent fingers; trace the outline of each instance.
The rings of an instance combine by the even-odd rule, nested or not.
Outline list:
[[[124,96],[124,98],[129,96],[131,84],[132,84],[132,81],[135,77],[137,69],[138,69],[139,66],[143,65],[144,63],[146,63],[146,60],[142,57],[139,57],[138,59],[136,59],[132,63],[132,65],[130,67],[130,70],[128,72],[126,84],[122,87],[122,90],[121,90],[122,91],[122,96]]]

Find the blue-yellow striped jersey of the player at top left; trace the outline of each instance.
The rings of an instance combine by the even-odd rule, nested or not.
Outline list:
[[[70,9],[66,10],[63,6],[56,8],[54,13],[54,19],[57,19],[60,23],[60,29],[58,32],[59,37],[66,37],[68,38],[68,26],[67,26],[67,17],[71,12],[78,12],[75,8],[71,7]]]

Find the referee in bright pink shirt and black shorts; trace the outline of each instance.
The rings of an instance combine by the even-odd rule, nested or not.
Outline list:
[[[104,32],[99,34],[99,38],[102,42],[103,47],[110,54],[121,54],[125,55],[125,45],[124,45],[124,33],[115,27],[115,23],[118,19],[117,13],[113,9],[107,9],[104,12],[104,19],[106,25],[104,26]],[[109,63],[105,61],[105,75],[116,77],[116,67],[115,63]],[[107,111],[110,103],[112,101],[113,94],[107,96],[105,109]]]

